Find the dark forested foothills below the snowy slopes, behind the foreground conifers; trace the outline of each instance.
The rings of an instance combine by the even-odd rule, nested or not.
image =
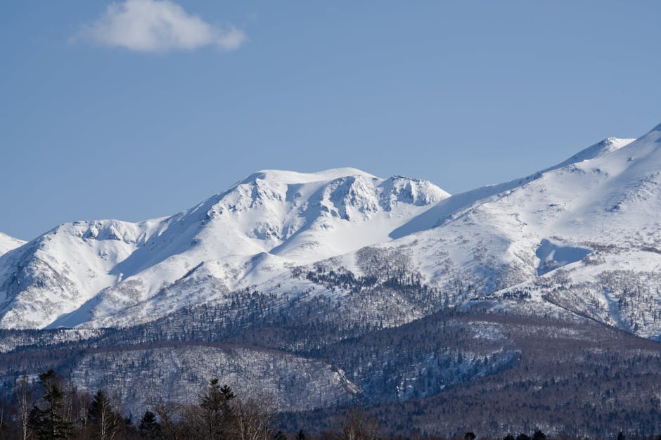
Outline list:
[[[531,307],[525,292],[451,306],[452,295],[421,287],[415,274],[378,271],[388,274],[378,288],[369,276],[324,266],[298,274],[342,285],[342,302],[246,289],[127,328],[0,330],[4,438],[22,432],[20,384],[30,384],[30,408],[46,410],[39,375],[50,369],[63,420],[79,438],[98,438],[90,434],[98,399],[122,420],[113,438],[147,435],[146,411],[160,436],[205,438],[200,404],[214,377],[231,388],[233,411],[268,415],[264,436],[338,436],[355,415],[349,408],[361,408],[361,419],[378,426],[374,435],[387,438],[661,433],[658,342],[541,302]]]

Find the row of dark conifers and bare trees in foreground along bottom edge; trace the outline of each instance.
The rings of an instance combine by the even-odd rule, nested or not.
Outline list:
[[[314,420],[302,422],[300,429],[283,430],[273,400],[267,394],[240,396],[231,387],[214,378],[200,389],[195,403],[152,402],[139,420],[120,412],[118,394],[99,389],[94,394],[79,392],[53,370],[39,373],[36,380],[22,376],[11,396],[0,401],[1,439],[80,439],[80,440],[377,440],[418,439],[421,432],[411,429],[409,435],[392,437],[383,434],[378,418],[362,408],[345,408],[332,427],[319,431]],[[286,425],[286,424],[285,424]],[[480,439],[498,439],[490,432]],[[430,439],[444,439],[428,436]],[[450,437],[475,440],[477,434],[467,431]],[[503,440],[559,440],[571,436],[547,436],[541,429],[531,435],[506,434]],[[578,436],[577,439],[584,437]],[[620,431],[614,440],[624,440]],[[660,440],[661,436],[632,436],[633,439]]]

